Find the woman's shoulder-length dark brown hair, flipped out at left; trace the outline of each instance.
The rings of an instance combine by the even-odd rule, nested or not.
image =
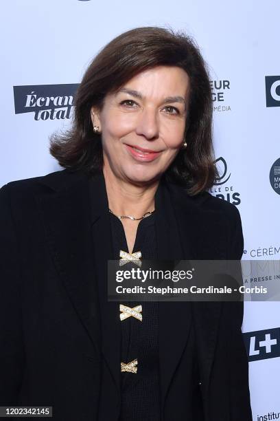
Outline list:
[[[165,177],[185,186],[191,195],[213,185],[213,102],[207,66],[194,40],[169,28],[129,30],[95,56],[75,95],[72,128],[62,136],[51,136],[50,153],[61,166],[86,173],[102,169],[102,142],[100,135],[93,132],[91,107],[102,109],[106,94],[158,65],[181,67],[189,75],[191,85],[185,129],[187,149],[178,152]]]

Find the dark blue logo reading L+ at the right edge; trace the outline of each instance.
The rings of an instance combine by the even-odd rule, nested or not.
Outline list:
[[[280,327],[243,334],[249,361],[280,356]]]

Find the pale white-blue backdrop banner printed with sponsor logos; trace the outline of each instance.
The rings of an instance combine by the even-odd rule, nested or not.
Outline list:
[[[49,136],[71,123],[73,96],[91,58],[137,26],[194,36],[209,64],[215,158],[211,194],[237,206],[250,283],[265,285],[280,259],[279,1],[18,0],[1,6],[0,185],[60,167]],[[280,418],[280,304],[246,302],[253,419]]]

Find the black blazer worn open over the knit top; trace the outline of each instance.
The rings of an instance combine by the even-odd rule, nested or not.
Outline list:
[[[242,257],[240,215],[232,204],[209,193],[190,197],[161,181],[155,207],[162,259]],[[119,331],[108,325],[111,346],[101,352],[95,279],[95,262],[106,281],[106,259],[113,258],[108,218],[103,173],[63,170],[1,188],[0,405],[49,405],[56,420],[97,420],[106,364],[110,421],[117,420]],[[176,390],[185,376],[187,308],[159,303],[165,421],[183,421]],[[191,311],[205,421],[252,420],[242,303],[192,303]]]

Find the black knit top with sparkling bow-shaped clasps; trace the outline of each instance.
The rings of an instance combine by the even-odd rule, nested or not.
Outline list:
[[[124,226],[110,213],[114,259],[128,252]],[[141,251],[141,260],[156,259],[154,215],[141,219],[132,252]],[[128,307],[142,305],[142,321],[133,316],[120,320],[121,362],[137,359],[137,373],[121,372],[121,415],[119,421],[160,421],[159,315],[157,302],[120,302]]]

